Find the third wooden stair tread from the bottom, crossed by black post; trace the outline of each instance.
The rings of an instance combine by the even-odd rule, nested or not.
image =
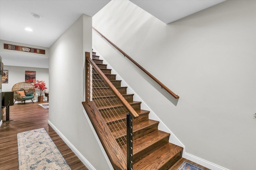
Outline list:
[[[158,123],[159,123],[159,121],[155,121],[155,120],[151,120],[151,119],[143,120],[138,123],[133,123],[132,133],[135,133],[137,131],[140,131],[141,129],[144,129],[144,128],[147,128],[147,127],[150,127],[153,125],[158,125]],[[118,131],[112,132],[112,134],[116,139],[126,136],[126,127],[118,129]]]

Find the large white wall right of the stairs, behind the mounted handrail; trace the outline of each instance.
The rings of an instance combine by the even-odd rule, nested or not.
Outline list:
[[[256,169],[256,1],[225,1],[166,25],[127,0],[93,26],[180,96],[168,100],[93,31],[93,46],[185,145],[187,155]]]

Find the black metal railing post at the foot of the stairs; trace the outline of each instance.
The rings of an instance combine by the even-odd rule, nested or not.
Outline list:
[[[130,113],[126,115],[127,121],[127,170],[132,170],[132,116]]]

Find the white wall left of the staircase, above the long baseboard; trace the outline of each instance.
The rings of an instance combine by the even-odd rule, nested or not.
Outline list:
[[[92,51],[92,18],[82,15],[50,47],[49,121],[94,168],[106,170],[106,159],[83,113],[86,51]]]

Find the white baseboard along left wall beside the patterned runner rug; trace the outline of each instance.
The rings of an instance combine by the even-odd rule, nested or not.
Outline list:
[[[54,129],[54,131],[61,137],[61,139],[68,145],[68,147],[76,154],[76,156],[83,162],[83,164],[89,170],[96,170],[86,158],[66,139],[66,137],[48,120],[49,125]]]

